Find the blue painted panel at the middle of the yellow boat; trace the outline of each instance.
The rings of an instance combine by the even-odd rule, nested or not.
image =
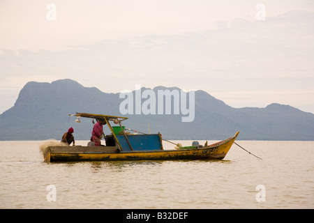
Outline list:
[[[131,151],[124,135],[116,135],[123,151]],[[156,151],[161,149],[159,134],[129,134],[128,141],[134,151]]]

